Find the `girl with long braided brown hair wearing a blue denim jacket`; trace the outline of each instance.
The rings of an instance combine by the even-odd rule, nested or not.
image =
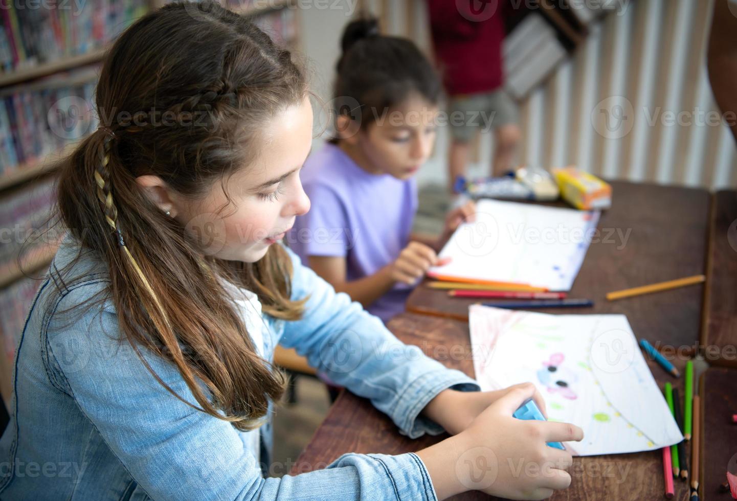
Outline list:
[[[66,235],[18,345],[0,499],[541,499],[570,483],[570,454],[545,441],[581,431],[511,417],[530,397],[544,410],[533,385],[478,391],[279,242],[310,209],[307,95],[289,52],[209,1],[167,4],[114,43],[103,125],[61,166]],[[450,436],[268,477],[276,343],[410,438]],[[479,483],[490,472],[468,465],[495,458]],[[503,458],[548,467],[515,475]]]

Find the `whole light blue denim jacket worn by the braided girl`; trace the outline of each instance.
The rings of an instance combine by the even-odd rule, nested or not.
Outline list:
[[[104,263],[86,250],[70,275],[60,276],[78,251],[67,234],[18,344],[10,423],[0,439],[0,500],[436,500],[413,453],[345,454],[324,469],[265,477],[253,441],[181,402],[119,341],[110,298],[64,311],[109,284]],[[300,320],[265,315],[261,352],[271,360],[276,343],[296,348],[330,379],[371,399],[410,438],[442,432],[420,411],[441,390],[479,390],[476,382],[399,342],[287,252],[292,298],[310,299]],[[197,404],[172,363],[141,353],[172,390]],[[270,416],[260,429],[267,463]]]

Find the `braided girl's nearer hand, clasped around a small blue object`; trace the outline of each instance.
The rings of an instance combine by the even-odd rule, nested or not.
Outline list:
[[[509,388],[458,434],[464,446],[456,474],[464,486],[512,500],[542,500],[570,485],[565,470],[572,455],[546,442],[580,441],[584,432],[569,423],[513,418],[534,394],[531,383]]]

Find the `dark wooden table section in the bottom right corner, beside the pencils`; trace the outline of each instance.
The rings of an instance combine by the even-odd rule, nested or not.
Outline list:
[[[737,370],[709,368],[699,381],[702,396],[701,484],[702,500],[729,500],[730,494],[719,491],[727,481],[727,466],[737,473],[737,424],[731,419],[737,414]]]

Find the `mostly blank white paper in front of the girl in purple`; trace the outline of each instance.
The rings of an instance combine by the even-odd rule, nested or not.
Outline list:
[[[598,211],[479,200],[476,220],[458,227],[430,276],[570,290],[598,224]]]

